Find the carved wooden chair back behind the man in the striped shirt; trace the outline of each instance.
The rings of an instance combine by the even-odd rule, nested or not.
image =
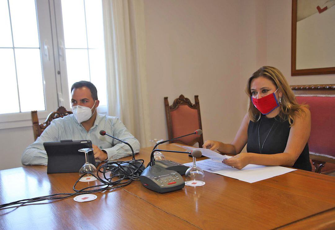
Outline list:
[[[66,110],[63,106],[60,106],[56,112],[51,112],[45,122],[39,123],[39,118],[37,117],[37,111],[31,111],[31,121],[32,121],[32,129],[34,132],[35,140],[41,136],[42,132],[50,125],[50,122],[56,118],[62,118],[72,114],[72,111]]]

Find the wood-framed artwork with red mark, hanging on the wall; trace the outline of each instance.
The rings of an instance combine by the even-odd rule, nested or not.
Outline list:
[[[292,0],[291,75],[335,73],[335,0]]]

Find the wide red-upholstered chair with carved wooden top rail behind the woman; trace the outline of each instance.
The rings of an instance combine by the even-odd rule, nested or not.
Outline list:
[[[335,84],[291,85],[298,103],[310,106],[312,127],[308,140],[313,171],[335,171]]]

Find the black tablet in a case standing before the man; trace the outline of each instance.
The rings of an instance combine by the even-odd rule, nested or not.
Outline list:
[[[85,163],[85,153],[78,152],[78,150],[83,148],[92,148],[92,142],[90,140],[61,140],[55,142],[44,142],[43,145],[48,155],[47,173],[79,173],[79,169]],[[88,153],[88,161],[97,166],[93,151]]]

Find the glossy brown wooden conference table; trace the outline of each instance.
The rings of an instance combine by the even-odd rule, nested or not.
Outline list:
[[[182,150],[168,144],[161,149]],[[136,159],[150,159],[152,147]],[[187,154],[166,159],[191,162]],[[124,159],[131,159],[126,157]],[[205,158],[204,158],[205,159]],[[0,171],[0,204],[71,193],[78,173],[47,174],[46,166]],[[255,183],[205,172],[206,184],[159,194],[139,181],[95,193],[0,210],[1,229],[330,229],[335,227],[335,177],[297,170]],[[97,181],[79,182],[78,188]]]

